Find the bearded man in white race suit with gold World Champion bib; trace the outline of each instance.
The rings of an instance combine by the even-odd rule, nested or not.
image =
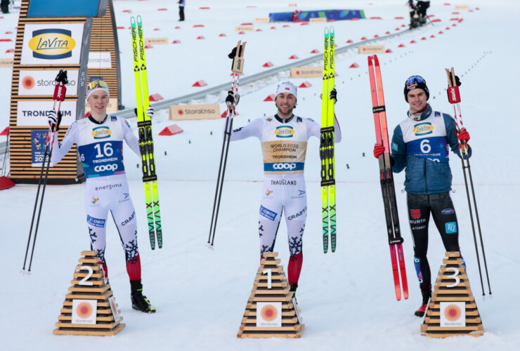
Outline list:
[[[336,100],[336,91],[331,99]],[[233,93],[226,101],[233,101]],[[307,217],[307,195],[304,179],[307,140],[320,138],[320,125],[292,113],[297,103],[297,87],[290,81],[278,85],[274,116],[254,119],[242,128],[235,129],[230,140],[256,137],[261,142],[264,157],[264,187],[259,212],[260,257],[272,252],[282,213],[285,213],[290,260],[287,270],[291,291],[298,287],[303,263],[302,237]],[[335,142],[342,133],[334,118]]]

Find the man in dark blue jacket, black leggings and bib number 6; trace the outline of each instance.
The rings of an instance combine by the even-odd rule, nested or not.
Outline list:
[[[394,129],[391,143],[392,171],[405,170],[408,218],[414,244],[414,264],[422,293],[422,305],[415,315],[422,317],[431,297],[431,272],[427,259],[429,216],[441,234],[446,251],[460,251],[455,208],[450,198],[451,170],[449,149],[459,157],[459,141],[469,140],[465,128],[457,131],[455,119],[431,109],[429,90],[420,76],[407,79],[405,100],[408,118]],[[374,156],[384,152],[375,145]],[[471,157],[472,150],[467,154]]]

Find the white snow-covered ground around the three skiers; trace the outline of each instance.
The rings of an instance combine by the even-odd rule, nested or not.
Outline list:
[[[514,33],[520,29],[514,1],[471,1],[472,12],[455,12],[450,6],[432,1],[428,13],[441,19],[427,26],[389,39],[384,44],[392,53],[380,54],[389,128],[402,119],[408,105],[403,100],[403,84],[412,74],[424,77],[436,110],[453,114],[446,100],[444,68],[455,67],[462,81],[462,117],[472,135],[472,170],[493,299],[482,300],[473,237],[467,210],[460,161],[453,157],[453,194],[460,226],[460,245],[467,261],[468,274],[486,333],[481,338],[455,337],[435,340],[420,336],[422,319],[413,316],[420,305],[415,270],[412,265],[412,240],[406,218],[403,173],[396,175],[396,191],[401,213],[403,244],[410,286],[410,298],[396,301],[392,286],[389,249],[386,244],[384,214],[377,179],[377,161],[372,157],[375,143],[368,82],[367,59],[354,52],[337,56],[336,113],[342,126],[343,141],[337,145],[337,232],[336,253],[323,254],[321,244],[318,140],[309,140],[306,180],[308,181],[308,219],[304,236],[304,266],[298,300],[306,329],[301,339],[242,340],[236,338],[247,298],[258,268],[257,211],[261,194],[261,151],[256,139],[230,146],[226,183],[215,249],[207,242],[214,197],[216,172],[221,150],[223,121],[176,122],[184,133],[158,136],[167,121],[167,111],[157,112],[154,124],[157,170],[159,174],[164,247],[151,251],[147,239],[141,170],[134,166],[139,158],[126,150],[125,164],[131,196],[138,216],[141,262],[145,295],[157,307],[149,315],[131,309],[129,282],[124,253],[113,223],[108,225],[106,258],[110,284],[124,317],[126,328],[117,336],[96,338],[54,336],[67,288],[80,252],[89,249],[84,224],[84,185],[48,186],[34,253],[32,275],[20,274],[27,244],[35,185],[16,185],[0,192],[1,297],[4,312],[0,322],[1,350],[70,350],[88,345],[96,348],[153,350],[514,350],[520,345],[517,316],[519,284],[512,272],[519,270],[516,236],[519,227],[517,197],[520,167],[512,162],[518,123],[506,119],[516,84],[519,54]],[[360,41],[407,24],[404,1],[316,1],[297,2],[301,10],[348,8],[363,9],[367,18],[334,22],[337,44],[349,39]],[[255,23],[261,32],[239,35],[235,26],[254,22],[269,12],[292,11],[281,1],[188,1],[186,22],[176,22],[174,1],[115,1],[118,25],[129,27],[129,16],[140,14],[145,37],[168,37],[181,44],[154,46],[147,51],[150,93],[164,98],[184,95],[204,80],[209,86],[230,81],[226,57],[238,39],[247,40],[245,74],[261,72],[264,62],[274,65],[290,62],[291,55],[306,58],[322,48],[324,24],[301,26],[280,23]],[[200,7],[209,6],[209,10]],[[256,6],[256,7],[247,7]],[[167,8],[167,11],[157,11]],[[477,10],[476,8],[479,8]],[[131,14],[122,11],[130,9]],[[18,15],[0,18],[0,38],[15,38]],[[462,22],[450,21],[463,18]],[[203,28],[193,25],[204,24]],[[453,27],[453,24],[456,24]],[[181,29],[175,29],[175,27]],[[270,29],[271,27],[276,29]],[[450,29],[446,30],[446,27]],[[159,31],[153,29],[159,28]],[[443,34],[439,34],[442,31]],[[13,32],[13,34],[4,34]],[[226,37],[219,37],[224,33]],[[134,102],[128,29],[118,31],[122,51],[123,104]],[[197,40],[198,36],[204,40]],[[431,36],[434,36],[432,38]],[[422,37],[426,40],[421,40]],[[415,44],[410,41],[415,40]],[[398,48],[404,44],[404,48]],[[0,42],[0,58],[13,48],[13,42]],[[508,60],[509,59],[509,60]],[[359,68],[349,68],[354,62]],[[275,112],[273,102],[263,102],[281,79],[244,86],[235,126],[249,119]],[[10,69],[0,69],[0,129],[8,125],[8,82]],[[299,89],[295,111],[303,117],[320,119],[320,79],[293,79],[298,85],[309,81],[310,88]],[[200,89],[200,88],[198,88]],[[221,103],[223,95],[202,102]],[[510,113],[510,112],[508,112]],[[507,121],[507,124],[504,124]],[[135,121],[131,121],[133,126]],[[503,126],[503,127],[502,127]],[[0,137],[4,138],[4,137]],[[0,139],[0,142],[5,139]],[[347,167],[346,165],[349,165]],[[429,261],[435,275],[443,258],[441,240],[431,223]],[[280,225],[275,251],[287,266],[285,223]],[[486,296],[488,289],[486,286]],[[88,343],[88,344],[87,344]]]

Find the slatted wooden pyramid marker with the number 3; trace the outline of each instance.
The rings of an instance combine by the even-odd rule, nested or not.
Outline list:
[[[421,334],[432,338],[482,336],[484,329],[460,252],[446,252]]]

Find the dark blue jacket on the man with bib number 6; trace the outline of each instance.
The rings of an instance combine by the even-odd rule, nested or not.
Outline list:
[[[431,157],[427,157],[424,155],[415,156],[413,154],[412,143],[408,140],[408,143],[405,143],[405,137],[403,136],[403,130],[401,126],[410,126],[412,124],[413,132],[415,133],[417,130],[419,132],[412,135],[415,138],[414,150],[417,152],[417,144],[422,143],[420,145],[424,145],[424,143],[428,143],[429,133],[431,131],[423,131],[423,129],[417,129],[417,126],[421,126],[424,124],[426,119],[428,121],[433,121],[432,113],[434,113],[435,118],[442,118],[444,127],[446,128],[446,133],[443,133],[441,136],[437,136],[436,140],[441,140],[441,146],[437,146],[439,150],[442,151],[443,155],[446,154],[446,157],[440,159],[432,159]],[[431,117],[431,118],[430,118]],[[430,118],[430,119],[429,119]],[[410,122],[411,121],[411,122]],[[439,123],[442,124],[442,121],[436,121],[437,125]],[[451,117],[449,114],[444,114],[441,112],[433,112],[431,107],[421,115],[420,121],[413,121],[408,117],[405,121],[401,122],[394,129],[394,136],[392,137],[391,144],[391,156],[394,159],[394,166],[392,167],[392,171],[395,173],[399,173],[405,169],[405,190],[410,194],[436,194],[441,192],[449,192],[451,190],[451,181],[453,176],[451,175],[450,164],[448,162],[448,145],[455,154],[460,157],[460,149],[459,143],[457,139],[457,135],[455,135],[455,119]],[[433,130],[434,128],[431,127]],[[439,133],[441,128],[437,128],[436,131]],[[410,128],[408,128],[410,130]],[[410,131],[408,131],[410,133]],[[422,135],[424,134],[424,135]],[[408,138],[410,139],[410,138]],[[409,145],[410,143],[410,145]],[[408,149],[407,149],[408,147]],[[427,145],[427,147],[429,147]],[[420,154],[420,151],[417,153]],[[471,157],[472,150],[469,148],[467,151],[469,157]]]

